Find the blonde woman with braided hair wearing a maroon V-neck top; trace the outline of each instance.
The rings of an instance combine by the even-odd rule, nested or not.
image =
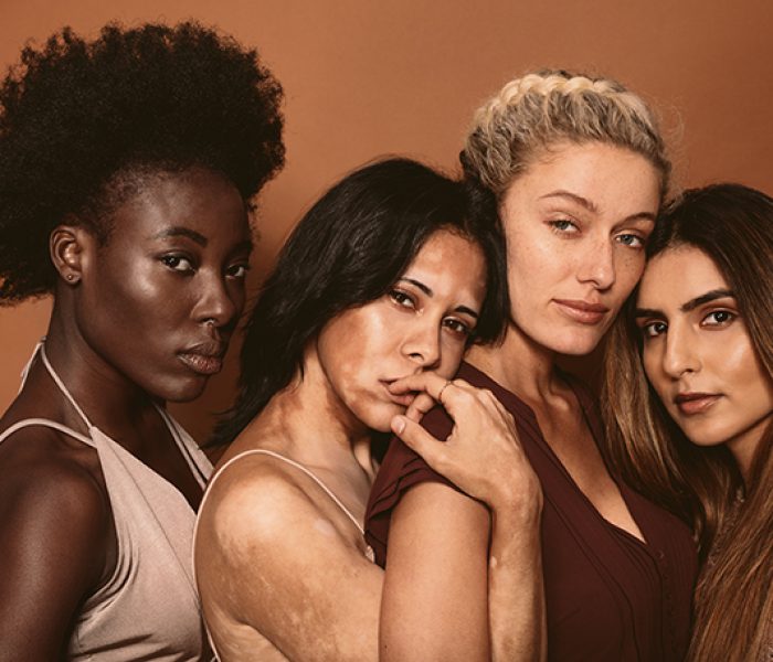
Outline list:
[[[445,404],[468,385],[489,389],[540,479],[541,535],[534,543],[522,530],[515,564],[489,555],[496,516],[433,470],[444,465],[436,439],[453,442],[464,421],[440,408],[426,429],[398,417],[392,429],[433,469],[394,441],[371,493],[369,541],[388,568],[382,655],[469,659],[460,651],[488,627],[509,638],[495,658],[680,660],[696,574],[690,532],[607,468],[596,403],[555,364],[599,344],[644,269],[670,170],[653,115],[614,81],[529,74],[480,108],[462,161],[498,203],[509,324],[500,344],[472,348],[444,388],[420,376],[392,392],[427,388]],[[502,573],[502,562],[513,569]]]

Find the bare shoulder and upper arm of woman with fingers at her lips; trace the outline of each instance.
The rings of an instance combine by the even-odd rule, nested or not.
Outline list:
[[[195,543],[208,622],[226,612],[289,660],[375,661],[383,573],[329,498],[288,471],[248,458],[212,485]]]

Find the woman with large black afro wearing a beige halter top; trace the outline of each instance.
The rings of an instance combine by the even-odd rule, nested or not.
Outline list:
[[[211,466],[166,413],[220,371],[282,88],[195,23],[70,29],[0,89],[0,303],[52,293],[0,419],[1,660],[208,658]]]

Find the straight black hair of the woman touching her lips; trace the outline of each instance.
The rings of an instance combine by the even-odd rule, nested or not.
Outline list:
[[[303,371],[322,327],[386,293],[438,229],[481,247],[487,295],[474,339],[500,338],[509,301],[494,195],[409,159],[366,166],[325,193],[282,249],[246,324],[236,403],[210,444],[232,441]]]

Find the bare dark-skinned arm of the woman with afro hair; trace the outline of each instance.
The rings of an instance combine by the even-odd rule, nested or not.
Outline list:
[[[64,656],[75,616],[103,576],[109,510],[83,467],[51,449],[45,460],[30,457],[34,439],[25,437],[3,449],[1,462],[0,660],[50,662]],[[28,448],[17,452],[20,445]]]

